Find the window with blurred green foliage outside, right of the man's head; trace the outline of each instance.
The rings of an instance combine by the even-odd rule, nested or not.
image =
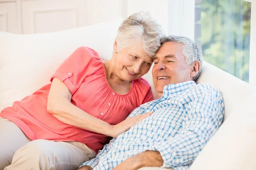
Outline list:
[[[195,0],[195,41],[204,60],[249,82],[251,3]]]

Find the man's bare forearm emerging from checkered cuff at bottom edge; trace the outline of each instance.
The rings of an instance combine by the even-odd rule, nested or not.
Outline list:
[[[161,167],[162,156],[158,151],[147,150],[126,159],[113,170],[137,170],[141,167]]]

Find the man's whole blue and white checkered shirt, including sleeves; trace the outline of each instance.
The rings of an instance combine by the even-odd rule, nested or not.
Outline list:
[[[166,85],[160,99],[136,108],[128,117],[154,111],[125,133],[113,138],[88,165],[111,170],[146,150],[159,151],[165,168],[188,170],[224,118],[221,92],[188,81]]]

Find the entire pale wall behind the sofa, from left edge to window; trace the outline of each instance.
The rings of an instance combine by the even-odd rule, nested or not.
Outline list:
[[[52,32],[145,11],[166,34],[194,39],[194,4],[194,0],[0,0],[0,31]]]

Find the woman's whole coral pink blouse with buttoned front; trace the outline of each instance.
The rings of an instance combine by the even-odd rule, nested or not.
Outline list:
[[[116,94],[108,85],[105,68],[93,49],[80,47],[52,75],[63,81],[72,93],[71,102],[78,108],[111,125],[122,122],[135,108],[154,99],[148,82],[133,81],[128,94]],[[108,136],[67,125],[47,112],[51,84],[13,103],[0,116],[14,122],[32,140],[79,141],[96,153]]]

